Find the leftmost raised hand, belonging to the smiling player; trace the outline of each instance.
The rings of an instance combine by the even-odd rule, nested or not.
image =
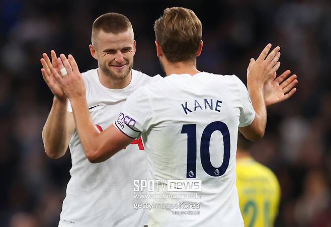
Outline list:
[[[43,58],[40,59],[40,62],[43,66],[41,69],[41,74],[43,75],[44,81],[46,82],[47,86],[51,90],[51,92],[58,98],[58,99],[64,99],[66,98],[65,93],[63,92],[63,89],[61,88],[60,84],[55,78],[55,72],[60,71],[60,67],[64,67],[62,62],[59,63],[56,59],[56,53],[54,50],[51,50],[51,58],[52,62],[50,61],[48,55],[46,53],[43,53]]]

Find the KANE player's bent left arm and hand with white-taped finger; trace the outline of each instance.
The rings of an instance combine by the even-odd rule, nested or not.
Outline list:
[[[69,55],[68,59],[64,54],[61,54],[60,57],[67,74],[62,77],[54,69],[53,73],[70,99],[76,130],[86,157],[92,163],[103,162],[129,145],[134,138],[125,135],[114,125],[102,132],[96,128],[88,110],[84,80],[75,60],[72,55]]]

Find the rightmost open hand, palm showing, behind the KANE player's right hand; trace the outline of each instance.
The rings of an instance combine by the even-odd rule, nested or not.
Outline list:
[[[290,70],[286,70],[278,78],[275,80],[272,78],[265,84],[264,99],[266,107],[283,102],[296,92],[295,86],[298,83],[298,80],[296,80],[296,74],[293,74],[286,79],[290,73]]]

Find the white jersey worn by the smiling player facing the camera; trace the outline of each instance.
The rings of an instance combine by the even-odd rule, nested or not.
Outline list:
[[[108,89],[98,77],[97,69],[82,73],[92,121],[99,130],[107,128],[118,116],[124,101],[138,87],[160,79],[132,69],[132,80],[123,89]],[[70,103],[68,111],[72,112]],[[147,161],[141,138],[111,159],[92,164],[86,158],[77,131],[70,143],[71,178],[63,201],[59,226],[109,227],[139,226],[148,222],[144,209],[134,210],[134,179],[146,179]]]

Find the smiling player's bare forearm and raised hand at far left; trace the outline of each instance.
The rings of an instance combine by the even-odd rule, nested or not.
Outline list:
[[[44,81],[54,94],[53,105],[42,130],[42,139],[46,154],[57,159],[65,154],[75,125],[72,113],[67,112],[68,99],[52,73],[52,70],[58,71],[61,67],[53,50],[51,57],[52,62],[44,53],[40,59]]]

